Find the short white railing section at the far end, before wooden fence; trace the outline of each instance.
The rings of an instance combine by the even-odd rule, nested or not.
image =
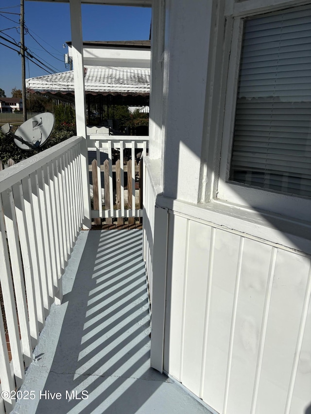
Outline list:
[[[91,135],[87,139],[92,171],[91,217],[95,224],[112,223],[113,218],[122,221],[128,217],[130,222],[142,217],[142,160],[148,152],[148,142],[148,136],[99,139]]]

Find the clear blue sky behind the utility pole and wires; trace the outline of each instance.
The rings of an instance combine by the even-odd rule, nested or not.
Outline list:
[[[16,50],[18,46],[3,37],[13,43],[20,42],[19,12],[19,0],[1,0],[0,43]],[[150,21],[150,8],[82,5],[84,40],[146,40]],[[49,66],[54,72],[68,70],[64,64],[68,48],[63,48],[63,44],[71,40],[69,4],[25,0],[25,25],[28,29],[25,45],[40,61],[35,62]],[[26,59],[26,78],[48,74]],[[10,97],[14,87],[21,88],[21,58],[16,51],[0,44],[0,88]]]

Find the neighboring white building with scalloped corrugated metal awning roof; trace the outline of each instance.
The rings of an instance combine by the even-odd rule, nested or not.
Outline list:
[[[71,42],[67,43],[71,60]],[[149,103],[150,40],[83,42],[83,50],[89,125],[105,125],[113,105]],[[27,79],[26,86],[30,92],[74,99],[72,70]]]

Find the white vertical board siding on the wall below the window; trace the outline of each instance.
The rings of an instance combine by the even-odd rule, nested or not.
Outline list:
[[[165,371],[220,414],[304,413],[310,258],[169,217]]]

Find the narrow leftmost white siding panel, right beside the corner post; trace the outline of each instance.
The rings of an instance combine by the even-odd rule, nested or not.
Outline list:
[[[180,381],[187,219],[169,215],[164,370]]]

